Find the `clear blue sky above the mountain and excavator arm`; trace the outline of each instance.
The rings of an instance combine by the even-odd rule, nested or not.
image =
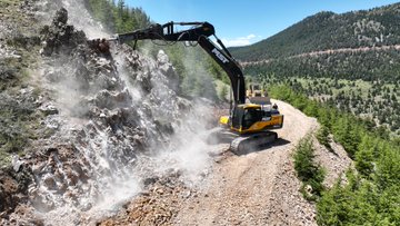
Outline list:
[[[320,11],[337,13],[396,3],[394,0],[126,0],[158,23],[208,21],[227,46],[250,45]]]

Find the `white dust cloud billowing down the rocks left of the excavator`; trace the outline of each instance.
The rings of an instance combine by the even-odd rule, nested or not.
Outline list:
[[[52,1],[43,14],[54,14],[60,6],[87,37],[110,37],[82,0]],[[188,73],[198,71],[204,78],[204,69]],[[179,77],[163,51],[153,59],[112,46],[104,57],[78,46],[47,59],[41,72],[51,96],[46,105],[59,111],[47,119],[56,128],[57,148],[48,159],[53,164],[41,168],[38,163],[30,191],[47,224],[108,216],[146,189],[146,179],[171,171],[188,186],[206,186],[213,163],[204,141],[212,101],[178,95]]]

